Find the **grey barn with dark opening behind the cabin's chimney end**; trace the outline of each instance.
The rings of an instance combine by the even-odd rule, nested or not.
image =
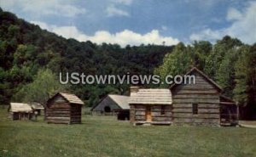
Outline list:
[[[118,115],[119,120],[129,119],[128,96],[108,94],[92,107],[92,115]]]

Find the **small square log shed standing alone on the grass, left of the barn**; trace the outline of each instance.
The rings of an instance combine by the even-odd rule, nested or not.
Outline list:
[[[48,123],[81,123],[84,102],[76,95],[56,93],[46,104],[46,121]]]

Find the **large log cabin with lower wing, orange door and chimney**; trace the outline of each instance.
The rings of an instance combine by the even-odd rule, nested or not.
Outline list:
[[[236,103],[221,95],[223,90],[215,81],[197,68],[189,70],[186,75],[195,76],[195,83],[174,84],[170,89],[131,87],[131,124],[238,124]]]

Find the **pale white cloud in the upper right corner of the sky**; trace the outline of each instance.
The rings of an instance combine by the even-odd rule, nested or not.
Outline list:
[[[247,8],[238,11],[236,8],[228,10],[226,20],[233,23],[226,28],[220,30],[212,30],[207,28],[189,36],[190,40],[216,40],[225,35],[233,36],[242,42],[249,44],[256,42],[256,2],[248,3]]]

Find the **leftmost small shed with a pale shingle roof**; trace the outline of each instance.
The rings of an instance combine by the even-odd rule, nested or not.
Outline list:
[[[12,120],[31,120],[32,108],[25,103],[10,103],[9,114]]]

